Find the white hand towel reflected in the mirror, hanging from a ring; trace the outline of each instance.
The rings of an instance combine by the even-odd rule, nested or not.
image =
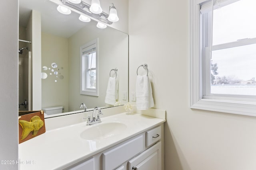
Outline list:
[[[114,105],[116,103],[116,93],[118,89],[118,81],[116,77],[110,77],[108,79],[108,87],[106,91],[105,103]]]

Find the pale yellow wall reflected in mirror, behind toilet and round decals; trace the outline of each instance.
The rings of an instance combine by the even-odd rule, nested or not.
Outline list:
[[[56,63],[58,67],[52,68],[52,63]],[[42,32],[42,66],[47,66],[58,72],[58,74],[55,75],[51,70],[42,70],[42,72],[48,74],[46,79],[42,79],[42,108],[64,106],[63,112],[68,112],[67,38]],[[52,75],[50,75],[50,73],[52,73]],[[64,78],[60,79],[61,76]],[[55,82],[55,80],[57,80],[57,82]]]

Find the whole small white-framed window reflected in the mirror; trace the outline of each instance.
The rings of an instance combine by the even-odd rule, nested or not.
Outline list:
[[[98,96],[98,40],[80,47],[80,94]]]

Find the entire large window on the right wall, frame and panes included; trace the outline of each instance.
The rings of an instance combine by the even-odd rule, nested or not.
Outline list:
[[[191,108],[256,116],[255,9],[191,0]]]

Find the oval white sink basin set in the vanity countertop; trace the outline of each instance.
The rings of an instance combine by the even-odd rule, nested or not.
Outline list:
[[[99,123],[92,125],[80,134],[80,137],[86,140],[101,140],[119,135],[127,128],[123,123]]]

